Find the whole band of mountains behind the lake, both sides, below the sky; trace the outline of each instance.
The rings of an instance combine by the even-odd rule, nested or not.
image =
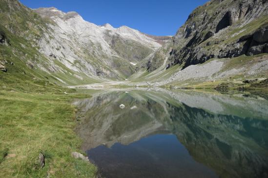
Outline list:
[[[11,39],[6,51],[16,51],[5,55],[12,59],[24,53],[23,64],[18,61],[27,70],[41,70],[43,78],[63,86],[125,79],[134,85],[161,86],[267,78],[266,0],[210,0],[196,8],[173,37],[96,25],[55,7],[32,10],[16,0],[1,2],[1,28],[6,34],[1,38],[5,44]],[[241,57],[245,60],[236,69]]]

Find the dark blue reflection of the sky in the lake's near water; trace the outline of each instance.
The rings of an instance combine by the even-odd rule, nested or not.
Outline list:
[[[154,135],[129,145],[115,143],[87,151],[107,178],[215,178],[192,159],[175,135]]]

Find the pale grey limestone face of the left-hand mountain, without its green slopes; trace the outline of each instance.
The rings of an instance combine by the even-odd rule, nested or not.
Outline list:
[[[40,52],[57,56],[66,67],[87,75],[120,78],[134,73],[138,63],[162,46],[158,38],[127,26],[114,28],[85,21],[78,13],[55,7],[35,9],[53,21],[39,40]],[[163,38],[165,40],[165,38]],[[52,56],[53,57],[53,56]]]

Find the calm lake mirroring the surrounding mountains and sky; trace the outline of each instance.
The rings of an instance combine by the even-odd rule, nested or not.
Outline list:
[[[75,101],[77,132],[103,177],[268,178],[266,96],[162,89],[92,95]]]

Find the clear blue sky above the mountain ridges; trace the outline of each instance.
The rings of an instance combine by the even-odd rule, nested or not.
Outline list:
[[[141,32],[175,35],[188,15],[208,0],[20,0],[30,8],[56,7],[76,11],[83,19],[113,27],[129,26]]]

